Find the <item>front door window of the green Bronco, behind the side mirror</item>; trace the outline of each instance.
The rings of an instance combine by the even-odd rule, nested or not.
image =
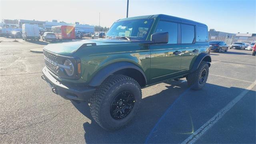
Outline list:
[[[177,40],[178,40],[178,24],[177,23],[160,21],[156,28],[156,32],[168,32],[169,33],[168,44],[177,44]]]

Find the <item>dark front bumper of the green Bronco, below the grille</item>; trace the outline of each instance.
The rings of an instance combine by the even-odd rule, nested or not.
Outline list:
[[[78,86],[76,84],[62,84],[54,78],[46,66],[42,70],[42,79],[52,88],[52,92],[68,100],[90,100],[96,88],[90,86]]]

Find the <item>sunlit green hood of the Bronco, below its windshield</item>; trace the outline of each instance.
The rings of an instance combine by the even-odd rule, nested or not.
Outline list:
[[[108,44],[109,45],[110,44],[130,44],[130,43],[136,43],[136,42],[132,42],[128,40],[99,38],[99,39],[93,39],[93,40],[77,40],[77,41],[69,41],[69,42],[61,42],[61,43],[52,43],[45,46],[44,49],[50,52],[53,52],[55,54],[71,56],[83,44],[90,44],[90,43],[96,43],[97,46],[100,46],[100,45],[108,45]]]

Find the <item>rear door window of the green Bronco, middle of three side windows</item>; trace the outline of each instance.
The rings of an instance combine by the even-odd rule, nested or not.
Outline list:
[[[195,27],[188,24],[181,24],[181,43],[192,44],[195,39]]]

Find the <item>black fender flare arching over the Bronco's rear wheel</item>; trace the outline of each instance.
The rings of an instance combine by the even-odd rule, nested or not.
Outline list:
[[[196,60],[194,61],[194,64],[193,64],[193,66],[190,70],[190,73],[196,71],[198,66],[200,65],[200,63],[204,59],[208,63],[208,66],[210,67],[211,66],[210,62],[212,62],[211,56],[209,54],[206,54],[206,53],[201,53],[197,56]]]

